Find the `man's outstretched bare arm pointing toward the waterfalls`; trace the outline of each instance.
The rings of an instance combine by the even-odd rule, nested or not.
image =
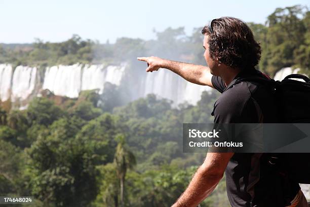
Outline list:
[[[209,67],[159,57],[138,57],[137,59],[147,62],[146,72],[158,71],[161,67],[167,68],[191,83],[213,87]]]

